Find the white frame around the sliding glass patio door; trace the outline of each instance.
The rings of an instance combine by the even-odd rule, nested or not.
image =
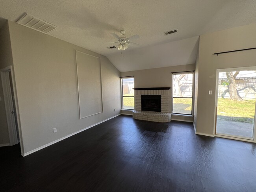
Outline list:
[[[231,135],[217,135],[216,133],[216,126],[217,126],[217,105],[218,105],[218,83],[219,83],[219,72],[230,72],[230,71],[241,71],[241,70],[256,70],[256,66],[246,66],[246,67],[235,67],[235,68],[223,68],[223,69],[217,69],[216,70],[216,83],[215,83],[215,109],[214,109],[214,126],[213,126],[213,135],[215,137],[223,137],[223,138],[230,138],[235,140],[241,140],[241,141],[248,141],[248,142],[256,142],[256,105],[255,105],[255,113],[254,113],[254,127],[253,127],[253,133],[252,138],[246,138],[246,137],[236,137],[235,135],[232,137]],[[255,103],[256,104],[256,103]]]

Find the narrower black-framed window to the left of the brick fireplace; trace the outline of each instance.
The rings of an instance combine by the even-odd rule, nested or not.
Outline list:
[[[122,109],[134,109],[134,78],[121,78]]]

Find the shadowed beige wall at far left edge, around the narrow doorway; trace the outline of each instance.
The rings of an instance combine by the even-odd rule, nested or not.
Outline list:
[[[11,42],[9,35],[8,22],[0,28],[0,69],[6,66],[13,65],[11,54]],[[6,111],[4,105],[4,95],[2,89],[2,82],[0,78],[0,145],[9,144],[9,133],[6,121]]]

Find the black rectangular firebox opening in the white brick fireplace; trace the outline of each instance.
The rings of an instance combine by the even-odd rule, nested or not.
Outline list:
[[[141,95],[141,111],[161,112],[161,95]]]

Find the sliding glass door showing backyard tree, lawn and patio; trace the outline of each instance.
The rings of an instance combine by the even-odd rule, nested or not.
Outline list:
[[[215,135],[254,139],[256,68],[217,70]]]

